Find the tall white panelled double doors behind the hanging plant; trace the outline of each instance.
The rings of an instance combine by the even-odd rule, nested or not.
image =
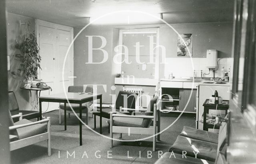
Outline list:
[[[68,48],[73,40],[73,27],[36,20],[36,36],[40,47],[42,70],[38,71],[40,79],[52,88],[50,94],[66,92],[68,86],[74,85],[74,48]],[[68,52],[68,53],[67,53]],[[65,63],[64,63],[65,61]],[[63,75],[63,76],[62,76]],[[48,95],[44,91],[41,95]],[[58,109],[58,103],[42,103],[42,112]]]

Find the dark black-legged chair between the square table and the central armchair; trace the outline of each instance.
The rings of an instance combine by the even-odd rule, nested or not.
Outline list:
[[[134,92],[127,92],[127,91],[119,91],[118,96],[116,98],[116,103],[114,105],[114,110],[119,111],[120,107],[123,107],[125,102],[124,100],[127,99],[127,107],[131,109],[135,109],[135,102],[137,100],[137,93]],[[112,111],[111,107],[102,108],[102,111],[100,111],[100,108],[97,108],[97,112],[94,112],[94,129],[96,128],[96,116],[100,117],[100,129],[102,128],[102,117],[106,119],[110,119],[110,112]],[[132,112],[127,113],[129,115],[132,114]],[[109,133],[109,124],[108,124],[108,133]],[[102,133],[100,131],[100,133]]]

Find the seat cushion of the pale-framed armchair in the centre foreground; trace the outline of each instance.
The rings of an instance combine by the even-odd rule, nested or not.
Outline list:
[[[124,113],[118,112],[117,114],[125,115]],[[142,118],[132,118],[132,117],[113,117],[113,126],[120,127],[141,127],[143,119]],[[110,124],[110,119],[108,120]]]

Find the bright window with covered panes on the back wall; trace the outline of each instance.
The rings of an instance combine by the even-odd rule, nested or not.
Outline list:
[[[158,79],[158,28],[120,30],[124,77]]]

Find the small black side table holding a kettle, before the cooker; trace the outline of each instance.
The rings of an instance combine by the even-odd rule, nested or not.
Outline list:
[[[208,131],[208,129],[212,129],[214,125],[206,123],[206,114],[209,113],[209,109],[216,109],[216,104],[209,103],[209,99],[206,99],[204,104],[204,125],[203,125],[203,130]],[[229,108],[229,101],[228,100],[223,100],[222,104],[218,104],[217,110],[225,110],[225,113],[227,115],[228,113],[228,108]],[[214,127],[214,129],[219,129],[220,127]]]

